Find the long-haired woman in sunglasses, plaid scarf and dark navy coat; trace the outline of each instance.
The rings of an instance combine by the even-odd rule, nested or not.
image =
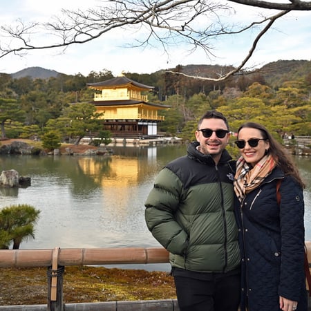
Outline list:
[[[236,145],[241,152],[234,178],[242,255],[241,310],[306,311],[303,181],[264,126],[243,124]]]

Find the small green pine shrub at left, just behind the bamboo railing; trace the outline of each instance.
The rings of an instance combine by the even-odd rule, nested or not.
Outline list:
[[[12,205],[0,210],[0,249],[19,249],[21,242],[35,238],[35,223],[40,211],[26,204]]]

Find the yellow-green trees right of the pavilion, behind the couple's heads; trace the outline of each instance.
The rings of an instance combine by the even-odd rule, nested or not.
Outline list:
[[[232,131],[252,120],[267,126],[276,138],[281,138],[283,133],[311,135],[310,94],[299,82],[285,82],[279,91],[256,82],[245,92],[225,88],[223,92],[197,94],[189,99],[173,95],[167,102],[172,107],[164,113],[166,120],[160,127],[166,126],[172,135],[194,140],[200,115],[209,109],[217,109],[227,116]]]

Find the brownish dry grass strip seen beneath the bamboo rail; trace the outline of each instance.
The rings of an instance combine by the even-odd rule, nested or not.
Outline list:
[[[44,304],[47,269],[1,268],[0,305]],[[64,303],[176,299],[173,277],[167,272],[105,267],[66,267]]]

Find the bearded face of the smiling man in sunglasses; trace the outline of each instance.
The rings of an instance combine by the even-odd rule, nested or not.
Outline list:
[[[209,138],[205,138],[202,131],[196,131],[196,140],[200,142],[200,152],[210,154],[211,157],[214,158],[214,161],[217,163],[220,159],[221,153],[229,142],[230,134],[226,133],[224,138],[219,138],[214,131],[227,131],[228,129],[225,121],[216,118],[204,119],[202,124],[200,124],[199,129],[211,129],[213,131]]]

